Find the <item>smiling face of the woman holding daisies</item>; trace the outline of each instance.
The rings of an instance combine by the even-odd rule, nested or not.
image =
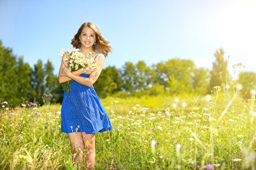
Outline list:
[[[84,27],[82,28],[79,39],[81,40],[81,45],[85,46],[86,48],[90,48],[93,46],[93,43],[96,42],[96,33],[92,28]]]

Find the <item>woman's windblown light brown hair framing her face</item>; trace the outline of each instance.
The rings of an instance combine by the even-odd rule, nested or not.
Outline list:
[[[80,48],[81,44],[79,42],[79,36],[81,35],[82,29],[84,27],[89,27],[93,29],[93,31],[96,33],[96,45],[92,46],[92,49],[97,53],[104,54],[105,57],[108,56],[109,52],[112,52],[112,48],[109,44],[109,41],[106,41],[102,36],[100,30],[98,30],[97,26],[93,23],[87,22],[83,23],[79,30],[77,31],[76,35],[71,40],[71,44],[74,48]]]

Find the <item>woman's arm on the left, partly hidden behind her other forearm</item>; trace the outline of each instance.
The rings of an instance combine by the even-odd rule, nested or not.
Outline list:
[[[65,83],[69,80],[72,80],[71,78],[68,78],[66,75],[63,74],[64,68],[66,66],[68,66],[69,58],[68,58],[67,54],[68,53],[65,53],[62,58],[62,62],[61,62],[60,70],[59,70],[59,83]],[[67,58],[67,61],[65,61],[65,58]],[[88,71],[77,70],[77,71],[72,71],[72,74],[79,76],[81,74],[91,74],[93,71],[94,70],[88,70]]]

